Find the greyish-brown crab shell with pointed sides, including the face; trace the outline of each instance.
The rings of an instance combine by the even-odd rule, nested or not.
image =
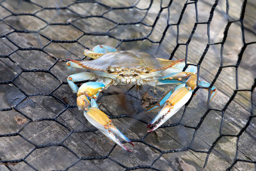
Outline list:
[[[152,82],[161,71],[179,61],[156,58],[144,52],[109,52],[92,61],[74,61],[98,77],[111,78],[115,84],[145,84]]]

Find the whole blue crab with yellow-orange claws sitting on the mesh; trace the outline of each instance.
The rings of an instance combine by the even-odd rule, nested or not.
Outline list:
[[[118,51],[108,45],[97,45],[92,50],[84,50],[84,55],[91,57],[91,61],[76,61],[68,59],[67,66],[84,68],[87,71],[70,75],[68,85],[73,93],[77,93],[77,107],[83,110],[84,117],[110,140],[130,151],[120,140],[134,144],[119,131],[97,105],[97,97],[103,89],[110,85],[157,85],[179,84],[166,93],[150,112],[163,106],[156,117],[148,123],[148,132],[155,131],[172,115],[184,106],[191,98],[196,86],[210,89],[210,99],[216,93],[216,87],[197,78],[197,68],[186,64],[183,60],[172,61],[151,56],[144,52],[132,50]],[[76,82],[88,82],[77,87]],[[95,80],[95,81],[90,81]],[[198,83],[196,84],[198,80]],[[119,137],[119,138],[118,138]]]

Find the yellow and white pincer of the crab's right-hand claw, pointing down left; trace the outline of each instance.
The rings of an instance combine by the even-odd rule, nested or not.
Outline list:
[[[155,131],[157,128],[159,128],[159,126],[161,126],[168,119],[170,119],[170,117],[176,114],[180,110],[180,108],[188,102],[191,95],[192,90],[190,87],[186,86],[186,84],[180,84],[179,86],[175,87],[170,98],[166,100],[164,107],[148,124],[148,132]]]

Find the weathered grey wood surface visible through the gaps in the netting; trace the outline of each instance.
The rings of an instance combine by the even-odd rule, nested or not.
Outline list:
[[[43,6],[67,6],[70,2],[61,1],[62,3],[52,3],[52,1],[38,1]],[[33,13],[40,8],[38,6],[31,6],[26,2],[20,1],[21,4],[16,1],[6,1],[3,4],[6,8],[15,11],[15,13],[26,12]],[[105,2],[104,3],[108,3]],[[184,2],[179,1],[173,2],[172,8],[170,8],[170,23],[176,23],[179,19],[180,11],[184,6]],[[198,21],[205,22],[209,18],[209,11],[211,11],[211,6],[214,2],[200,1],[198,2]],[[240,1],[232,1],[230,3],[229,14],[232,20],[239,19],[239,13],[241,10]],[[249,2],[252,5],[246,6],[246,11],[255,11],[255,3]],[[127,6],[125,2],[111,3],[111,6]],[[147,1],[141,1],[138,5],[139,8],[145,8],[148,6]],[[152,8],[148,11],[148,17],[143,20],[147,24],[153,24],[156,19],[157,13],[159,11],[160,4],[155,2],[152,4]],[[166,3],[163,3],[166,6]],[[223,31],[227,24],[225,19],[225,1],[220,1],[214,12],[214,18],[210,26],[211,42],[222,41]],[[80,15],[100,15],[108,9],[103,6],[95,4],[75,4],[70,6],[70,10],[74,10]],[[144,12],[138,12],[138,10],[113,10],[106,14],[105,17],[115,20],[115,22],[136,22],[140,20]],[[255,13],[254,13],[255,14]],[[10,15],[10,12],[4,10],[0,7],[0,17],[6,17]],[[163,34],[163,29],[166,26],[167,9],[163,10],[161,17],[159,18],[153,33],[150,35],[151,40],[159,41]],[[36,13],[36,16],[42,17],[42,19],[47,22],[67,22],[76,20],[77,15],[71,13],[68,10],[43,10]],[[186,43],[188,40],[191,29],[195,24],[195,5],[189,4],[186,8],[185,14],[182,18],[182,22],[179,26],[179,42]],[[38,30],[44,27],[46,24],[35,17],[30,16],[19,16],[19,17],[8,17],[3,21],[0,21],[0,34],[9,33],[12,28],[6,26],[4,22],[11,24],[16,29],[28,29],[28,30]],[[246,42],[255,41],[255,29],[251,24],[255,22],[255,15],[250,12],[246,12],[246,17],[244,19],[244,26],[248,29],[245,30],[245,40]],[[79,27],[90,32],[106,32],[115,24],[103,19],[81,19],[76,22],[72,22],[74,26]],[[150,27],[143,25],[139,26],[118,26],[112,31],[111,35],[120,39],[127,38],[143,38],[150,31]],[[176,34],[177,27],[170,26],[166,35],[164,36],[163,43],[157,56],[168,58],[173,48],[176,46]],[[42,29],[40,33],[53,40],[76,40],[83,33],[72,26],[47,26]],[[39,36],[38,34],[24,34],[24,33],[12,33],[8,35],[8,38],[13,42],[17,43],[20,47],[43,47],[48,40]],[[108,36],[87,36],[84,35],[79,39],[79,43],[86,47],[93,47],[97,44],[108,44],[116,46],[119,42]],[[82,53],[84,47],[79,45],[79,43],[51,43],[44,50],[51,53],[54,57],[58,59],[78,59],[82,58]],[[188,47],[188,61],[190,63],[198,63],[204,48],[207,44],[207,26],[205,24],[198,25],[195,34],[189,43]],[[140,50],[148,52],[150,54],[156,54],[157,45],[155,43],[150,43],[150,41],[132,41],[123,42],[118,49],[120,50]],[[234,22],[228,31],[227,41],[223,50],[223,65],[234,65],[237,61],[237,54],[242,47],[241,41],[241,26],[239,22]],[[8,55],[13,50],[16,50],[10,41],[6,39],[0,40],[0,54]],[[256,74],[255,71],[255,61],[253,61],[253,56],[255,54],[255,44],[248,45],[246,51],[243,54],[242,62],[238,69],[238,83],[239,89],[250,89],[253,84],[253,78]],[[186,47],[180,45],[177,52],[175,53],[176,59],[183,59],[185,56]],[[17,64],[12,63],[9,59],[1,58],[1,80],[12,80],[12,78],[20,72],[20,67],[24,69],[42,69],[47,70],[55,60],[52,57],[47,56],[43,52],[37,50],[33,51],[22,51],[19,50],[10,56],[13,61]],[[19,67],[20,66],[20,67]],[[200,67],[200,77],[204,78],[208,82],[211,82],[215,77],[218,68],[220,66],[220,45],[211,46],[204,58],[204,61]],[[28,94],[36,93],[51,93],[53,89],[58,87],[61,82],[65,82],[67,75],[71,73],[65,68],[65,63],[59,62],[52,69],[51,72],[54,73],[60,80],[52,77],[49,73],[22,73],[17,79],[15,79],[15,85],[18,85],[22,91]],[[218,87],[218,94],[210,102],[211,108],[216,108],[221,110],[224,105],[229,100],[230,96],[234,93],[236,89],[236,75],[234,68],[223,68],[220,77],[218,77],[216,83],[214,84]],[[65,106],[61,104],[56,99],[51,96],[35,96],[33,98],[25,98],[24,94],[12,84],[1,84],[0,85],[0,108],[9,108],[15,106],[17,103],[22,101],[20,105],[16,108],[20,112],[26,114],[31,119],[39,119],[41,117],[54,117],[60,112],[63,114],[58,117],[58,121],[67,125],[72,130],[84,130],[88,128],[93,128],[93,126],[84,119],[81,111],[76,108],[65,110]],[[150,94],[156,98],[161,98],[161,94],[166,92],[172,86],[157,87],[158,95],[155,96],[154,93]],[[121,89],[129,89],[130,87],[111,87],[107,92],[120,91]],[[147,91],[148,87],[143,87],[140,90],[140,96],[142,97]],[[152,88],[151,88],[152,89]],[[137,96],[136,89],[131,91],[134,96]],[[76,104],[76,94],[72,94],[68,85],[61,85],[54,93],[58,98],[65,100],[68,105]],[[196,126],[200,122],[200,118],[207,111],[207,101],[208,93],[203,89],[199,89],[196,93],[195,98],[189,104],[186,114],[182,119],[182,124],[188,126]],[[237,135],[241,128],[243,128],[248,121],[250,116],[250,96],[251,94],[244,91],[239,92],[236,98],[228,105],[225,111],[225,117],[223,122],[223,134]],[[105,112],[112,115],[120,114],[138,114],[143,110],[140,103],[141,101],[127,96],[127,106],[128,109],[123,108],[122,104],[118,101],[120,97],[104,96],[100,99],[102,105],[100,108]],[[255,101],[253,102],[255,105]],[[157,111],[156,111],[157,112]],[[156,114],[152,112],[148,115],[140,114],[138,117],[143,121],[150,121],[152,117]],[[168,123],[176,123],[179,121],[182,115],[183,109],[175,114]],[[17,117],[24,119],[24,123],[28,122],[23,115],[15,110],[1,112],[0,120],[0,134],[15,133],[24,126],[24,123],[20,123]],[[142,138],[146,133],[146,124],[136,121],[131,118],[113,119],[115,125],[120,128],[120,130],[127,135],[129,138]],[[220,124],[221,124],[221,112],[216,112],[211,110],[211,112],[205,117],[204,122],[200,126],[195,142],[193,142],[193,149],[207,151],[211,147],[212,143],[220,136]],[[170,128],[159,129],[156,131],[157,137],[154,133],[145,138],[145,142],[152,144],[159,149],[180,149],[187,147],[189,142],[193,137],[195,130],[186,128],[184,126],[174,126]],[[70,131],[67,128],[61,126],[54,121],[38,121],[29,123],[20,134],[25,138],[28,138],[31,142],[37,145],[44,145],[49,143],[59,143],[65,137],[68,136]],[[239,139],[239,150],[238,158],[244,160],[256,160],[256,149],[255,145],[255,119],[252,119],[250,126],[241,135]],[[223,137],[219,140],[218,144],[214,147],[213,151],[209,156],[209,161],[205,170],[224,170],[227,168],[236,155],[236,137]],[[72,133],[70,137],[64,142],[67,147],[72,149],[79,157],[93,157],[93,156],[104,156],[113,147],[113,143],[104,137],[99,131],[88,132],[88,133]],[[148,147],[147,145],[134,142],[135,147],[133,152],[124,152],[120,147],[116,147],[114,151],[109,156],[109,159],[105,160],[84,160],[79,161],[76,165],[70,168],[70,170],[122,170],[122,166],[116,164],[113,161],[118,161],[122,163],[125,167],[134,167],[137,165],[151,165],[154,160],[159,156],[159,152],[155,149]],[[0,137],[0,158],[1,160],[19,160],[24,158],[29,151],[33,149],[33,145],[26,142],[19,136],[15,137]],[[161,170],[177,170],[175,166],[175,158],[181,158],[190,165],[193,165],[196,170],[200,170],[204,166],[206,154],[202,152],[195,151],[185,151],[185,152],[174,152],[163,154],[159,160],[152,165],[154,168]],[[67,149],[59,146],[45,147],[42,149],[36,149],[32,152],[26,161],[33,165],[33,167],[38,170],[61,170],[67,168],[69,165],[77,161],[77,157],[72,154]],[[0,165],[0,170],[32,170],[28,167],[26,163],[20,162],[16,165]],[[233,168],[234,170],[255,170],[255,165],[250,163],[237,163]]]

